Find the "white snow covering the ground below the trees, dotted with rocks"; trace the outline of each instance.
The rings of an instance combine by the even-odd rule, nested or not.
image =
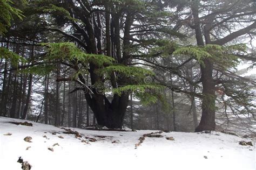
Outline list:
[[[254,146],[238,144],[239,141],[252,139],[220,132],[163,132],[163,138],[146,137],[135,149],[134,144],[138,143],[139,137],[156,131],[123,132],[71,128],[82,134],[84,140],[87,140],[85,137],[97,139],[86,144],[75,138],[75,134],[65,134],[64,129],[52,125],[31,122],[33,126],[24,126],[9,122],[25,121],[0,117],[1,169],[21,169],[21,164],[17,162],[18,157],[28,161],[35,170],[255,169]],[[54,135],[53,132],[57,134]],[[5,136],[6,133],[12,135]],[[44,135],[49,139],[44,138]],[[23,140],[26,136],[32,137],[32,143]],[[165,137],[173,137],[174,140],[167,140]],[[113,141],[117,143],[112,143]],[[52,146],[55,143],[59,146]],[[28,146],[31,147],[26,150]],[[48,147],[54,151],[48,150]]]

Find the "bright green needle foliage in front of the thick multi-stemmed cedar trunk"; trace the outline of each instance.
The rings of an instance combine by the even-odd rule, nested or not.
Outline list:
[[[112,88],[113,94],[122,95],[123,93],[134,93],[143,104],[155,103],[162,94],[164,94],[164,86],[159,86],[156,84],[145,84],[143,82],[146,76],[153,76],[154,73],[151,70],[140,68],[140,67],[129,67],[124,65],[116,65],[114,64],[115,60],[110,56],[100,55],[100,54],[87,54],[79,49],[72,42],[60,42],[60,43],[48,43],[42,44],[47,48],[47,54],[44,58],[44,61],[56,61],[56,63],[61,62],[69,62],[72,64],[82,64],[84,67],[77,70],[77,72],[73,75],[73,79],[77,79],[79,74],[88,74],[87,66],[89,63],[93,63],[98,67],[97,72],[99,75],[105,76],[106,79],[111,79],[111,74],[113,72],[121,74],[125,76],[127,79],[135,80],[136,84],[126,83],[125,86]],[[56,65],[53,64],[53,65]],[[45,67],[35,66],[29,68],[28,70],[34,74],[48,74],[51,70],[54,72],[56,67]],[[140,82],[140,83],[138,83]],[[103,92],[104,83],[96,82],[92,84],[94,88],[101,88]]]

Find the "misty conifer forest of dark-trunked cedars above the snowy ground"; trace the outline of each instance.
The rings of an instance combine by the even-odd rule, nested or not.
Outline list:
[[[255,5],[1,0],[0,116],[255,134]]]

